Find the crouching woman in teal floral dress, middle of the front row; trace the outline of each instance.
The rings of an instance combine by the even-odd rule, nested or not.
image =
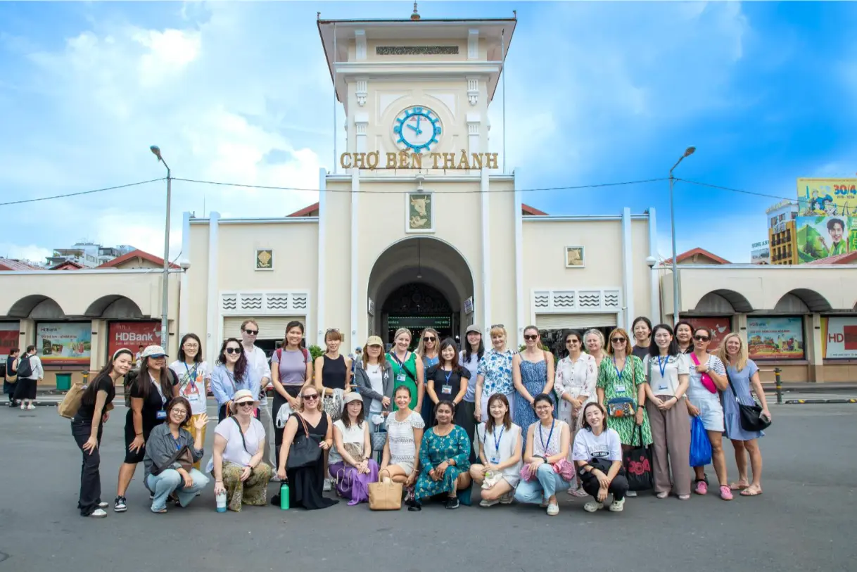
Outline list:
[[[470,437],[452,424],[453,411],[452,401],[443,400],[434,406],[437,424],[423,435],[423,470],[417,479],[416,503],[408,510],[420,510],[425,501],[444,494],[446,508],[458,509],[458,491],[470,489]]]

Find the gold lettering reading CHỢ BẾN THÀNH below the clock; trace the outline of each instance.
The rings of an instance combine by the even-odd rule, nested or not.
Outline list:
[[[369,153],[344,153],[339,155],[339,166],[343,169],[497,169],[497,153],[471,153],[462,149],[461,153],[387,153],[381,157],[379,151]],[[383,159],[383,160],[382,160]]]

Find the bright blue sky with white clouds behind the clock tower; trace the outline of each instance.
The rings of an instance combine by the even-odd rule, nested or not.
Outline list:
[[[854,3],[420,3],[423,17],[518,27],[491,110],[524,189],[676,176],[794,198],[798,177],[857,172]],[[323,18],[408,17],[411,3],[0,3],[0,202],[173,175],[317,188],[333,158]],[[506,97],[506,125],[501,106]],[[339,107],[337,122],[342,123]],[[341,143],[340,147],[341,149]],[[176,183],[181,213],[287,214],[315,202]],[[163,250],[163,183],[2,207],[0,256],[92,239]],[[528,193],[550,214],[658,213],[666,182]],[[676,185],[679,250],[748,262],[774,198]]]

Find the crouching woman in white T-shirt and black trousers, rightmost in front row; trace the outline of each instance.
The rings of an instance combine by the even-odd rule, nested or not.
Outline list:
[[[607,495],[613,495],[610,510],[621,512],[625,506],[628,481],[622,469],[622,444],[619,433],[607,427],[607,414],[598,403],[584,408],[583,429],[574,437],[572,459],[587,494],[595,501],[584,504],[584,510],[594,513],[604,508]]]

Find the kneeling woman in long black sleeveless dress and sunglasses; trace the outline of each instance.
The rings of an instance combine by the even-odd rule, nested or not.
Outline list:
[[[307,510],[327,509],[339,503],[333,498],[325,498],[324,488],[324,457],[333,444],[333,421],[330,415],[321,408],[321,392],[315,385],[307,384],[301,389],[300,411],[292,413],[283,431],[283,445],[279,451],[279,468],[277,475],[281,481],[289,484],[289,506],[303,507]],[[302,422],[303,421],[303,422]],[[305,425],[304,425],[305,424]],[[309,467],[285,470],[289,459],[289,449],[297,437],[303,434],[304,427],[309,438],[317,443],[322,454]]]

